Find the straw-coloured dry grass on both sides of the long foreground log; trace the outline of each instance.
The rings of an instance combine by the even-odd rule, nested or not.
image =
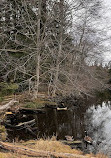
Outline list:
[[[44,150],[44,151],[50,151],[50,152],[57,152],[57,153],[71,153],[71,154],[77,154],[77,155],[84,155],[82,151],[71,149],[70,146],[64,145],[63,143],[56,141],[55,138],[49,139],[49,140],[43,140],[40,139],[38,141],[27,141],[23,143],[16,143],[16,145],[21,147],[28,147],[31,149],[36,150]],[[108,158],[104,154],[87,154],[84,155],[86,158]],[[28,158],[27,156],[18,155],[16,153],[0,153],[0,158]],[[31,157],[30,157],[31,158]]]

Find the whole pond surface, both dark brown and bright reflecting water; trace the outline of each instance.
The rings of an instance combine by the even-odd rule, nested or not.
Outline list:
[[[66,135],[73,136],[75,140],[83,140],[84,131],[92,137],[94,146],[88,150],[102,151],[111,155],[111,102],[102,102],[98,105],[72,106],[65,111],[46,108],[44,114],[29,115],[29,120],[36,119],[34,133],[38,138],[57,136],[65,139]],[[9,137],[19,139],[36,138],[26,129],[8,131]]]

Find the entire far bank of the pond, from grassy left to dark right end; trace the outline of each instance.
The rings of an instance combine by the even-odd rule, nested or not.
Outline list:
[[[5,105],[9,103],[11,100],[18,101],[18,106],[23,108],[43,108],[45,106],[50,107],[58,107],[61,106],[61,103],[64,104],[65,107],[71,107],[76,106],[79,107],[81,105],[87,106],[90,103],[93,104],[93,102],[102,102],[105,100],[109,100],[111,97],[111,93],[109,91],[104,92],[97,92],[93,95],[67,95],[67,96],[61,96],[57,95],[56,97],[48,96],[47,93],[41,92],[38,93],[38,97],[35,99],[33,98],[33,94],[29,94],[29,92],[24,91],[23,93],[19,94],[13,94],[13,95],[7,95],[7,96],[0,96],[0,105]],[[110,98],[111,99],[111,98]]]

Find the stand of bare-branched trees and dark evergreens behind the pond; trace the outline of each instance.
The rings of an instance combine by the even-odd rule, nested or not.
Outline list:
[[[1,3],[0,73],[5,81],[17,82],[34,92],[34,97],[42,88],[55,96],[88,95],[97,83],[103,87],[105,80],[98,79],[96,69],[88,65],[104,51],[105,38],[101,34],[101,39],[95,22],[100,16],[100,1],[71,3]]]

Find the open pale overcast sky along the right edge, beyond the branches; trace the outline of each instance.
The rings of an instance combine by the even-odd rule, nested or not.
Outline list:
[[[68,0],[72,2],[72,0]],[[105,40],[103,42],[106,50],[104,53],[102,52],[102,59],[99,58],[98,62],[102,62],[103,65],[109,63],[111,61],[111,0],[102,0],[102,11],[101,11],[101,18],[98,19],[98,28],[105,29]]]

